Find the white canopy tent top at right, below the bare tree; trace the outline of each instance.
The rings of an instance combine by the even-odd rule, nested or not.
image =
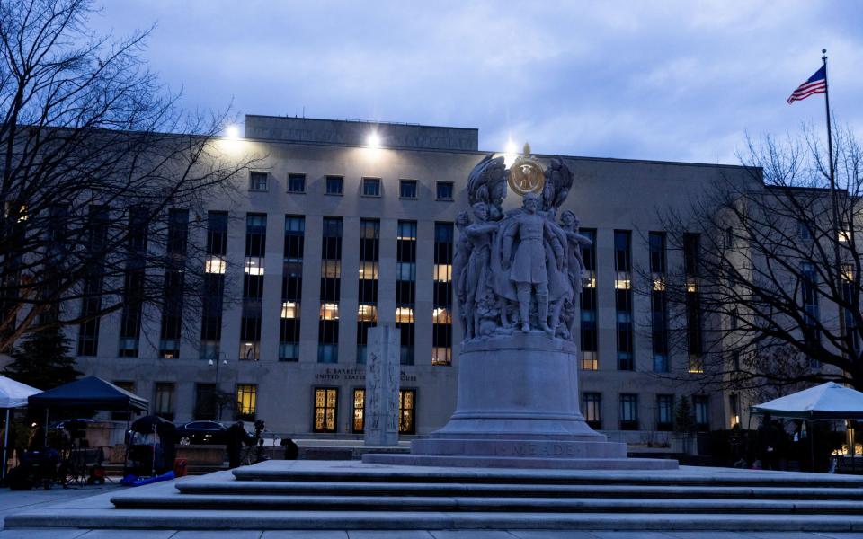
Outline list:
[[[754,414],[796,420],[863,420],[863,393],[828,382],[752,406]]]

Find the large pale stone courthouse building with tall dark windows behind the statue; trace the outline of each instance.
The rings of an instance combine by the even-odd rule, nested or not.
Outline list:
[[[468,173],[489,153],[477,140],[471,128],[247,116],[245,137],[220,144],[262,161],[233,194],[172,214],[180,225],[207,225],[203,309],[184,312],[183,324],[145,321],[137,331],[122,313],[75,328],[79,369],[176,422],[237,416],[294,437],[358,437],[367,331],[394,324],[400,428],[406,436],[439,428],[455,408],[463,332],[451,281],[454,221],[467,209]],[[652,315],[663,302],[634,287],[639,269],[661,278],[685,258],[666,248],[658,209],[747,175],[716,164],[564,159],[575,183],[561,211],[572,209],[593,239],[583,252],[590,277],[575,397],[585,417],[638,442],[669,433],[685,395],[700,429],[729,428],[740,413],[735,395],[663,377],[698,369],[698,350],[670,353],[668,317]],[[504,208],[518,206],[510,193]]]

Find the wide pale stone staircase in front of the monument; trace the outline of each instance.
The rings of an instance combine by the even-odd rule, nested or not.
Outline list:
[[[863,478],[270,461],[114,493],[7,527],[863,531]]]

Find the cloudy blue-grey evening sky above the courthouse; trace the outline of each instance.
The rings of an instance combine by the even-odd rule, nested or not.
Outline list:
[[[151,68],[190,109],[480,129],[543,154],[737,163],[746,133],[823,130],[787,96],[828,49],[863,135],[863,1],[104,0],[99,31],[156,24]]]

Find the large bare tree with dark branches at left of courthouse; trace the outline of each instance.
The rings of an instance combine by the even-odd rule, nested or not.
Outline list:
[[[224,115],[184,112],[147,70],[148,31],[96,36],[92,13],[0,3],[0,352],[119,310],[134,331],[147,305],[180,323],[201,289],[187,241],[206,225],[201,199],[250,163],[223,151]]]

